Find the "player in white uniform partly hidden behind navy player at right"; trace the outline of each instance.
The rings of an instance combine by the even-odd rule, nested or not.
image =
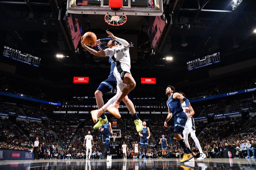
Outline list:
[[[179,92],[179,93],[180,93],[182,96],[185,97],[185,94],[184,94],[183,92]],[[185,107],[186,107],[185,101],[182,101],[182,100],[181,100],[180,102],[181,102],[181,107],[183,108],[183,110],[185,110]],[[198,148],[198,150],[199,150],[199,152],[200,152],[200,157],[197,158],[197,160],[204,160],[204,159],[206,159],[207,157],[206,157],[206,155],[204,154],[204,152],[203,152],[203,150],[202,150],[202,148],[201,148],[201,145],[200,145],[200,143],[199,143],[199,140],[197,139],[196,133],[195,133],[195,132],[196,132],[196,127],[195,127],[195,122],[194,122],[194,119],[193,119],[193,115],[195,114],[195,111],[194,111],[193,107],[190,105],[190,103],[189,103],[188,108],[189,108],[189,110],[190,110],[189,113],[186,113],[186,112],[184,111],[184,112],[186,113],[186,115],[188,116],[188,120],[187,120],[186,125],[185,125],[185,128],[184,128],[184,130],[183,130],[183,136],[184,136],[183,139],[184,139],[186,145],[188,146],[188,148],[190,149],[190,146],[189,146],[189,144],[188,144],[188,134],[190,133],[192,139],[194,140],[194,142],[195,142],[195,144],[196,144],[196,146],[197,146],[197,148]]]

